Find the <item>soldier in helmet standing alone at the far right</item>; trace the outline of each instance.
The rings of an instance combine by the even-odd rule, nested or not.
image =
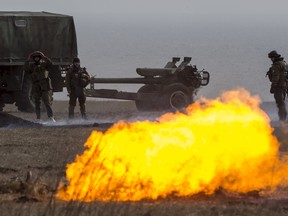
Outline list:
[[[281,57],[277,51],[273,50],[268,54],[268,57],[272,61],[272,66],[269,69],[269,79],[271,81],[270,93],[274,94],[274,99],[278,107],[279,120],[285,121],[287,116],[285,106],[285,95],[286,95],[286,63],[284,58]]]

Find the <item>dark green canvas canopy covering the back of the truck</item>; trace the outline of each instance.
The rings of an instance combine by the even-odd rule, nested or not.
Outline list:
[[[77,56],[77,38],[72,16],[26,11],[0,12],[0,65],[23,65],[35,50],[53,64],[71,63]]]

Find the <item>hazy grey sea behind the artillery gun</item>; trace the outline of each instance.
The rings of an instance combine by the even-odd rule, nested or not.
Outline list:
[[[223,91],[247,89],[273,101],[265,77],[267,54],[288,59],[285,16],[77,14],[74,22],[82,67],[97,78],[138,77],[136,68],[161,68],[172,57],[192,57],[191,64],[210,73],[197,97],[213,99]],[[139,84],[97,84],[96,88],[137,92]],[[67,100],[67,93],[55,93]]]

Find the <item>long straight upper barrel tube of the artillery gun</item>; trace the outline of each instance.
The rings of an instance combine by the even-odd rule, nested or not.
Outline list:
[[[90,83],[130,83],[130,84],[159,84],[162,77],[139,77],[139,78],[91,78]]]

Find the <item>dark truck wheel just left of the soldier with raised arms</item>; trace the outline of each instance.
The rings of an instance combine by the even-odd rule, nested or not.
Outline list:
[[[24,77],[22,91],[15,92],[15,105],[19,111],[34,112],[34,103],[31,98],[32,82],[28,76]]]

